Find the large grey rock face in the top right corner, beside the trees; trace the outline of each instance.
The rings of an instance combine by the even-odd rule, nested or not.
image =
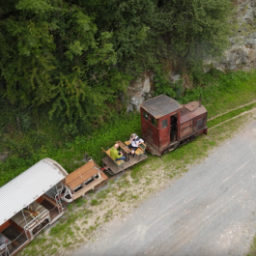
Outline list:
[[[256,68],[256,0],[239,0],[236,19],[239,29],[230,38],[231,46],[213,67],[219,71],[248,71]],[[206,71],[207,71],[206,67]]]

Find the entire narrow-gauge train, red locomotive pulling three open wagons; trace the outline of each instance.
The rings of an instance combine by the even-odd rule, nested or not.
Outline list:
[[[130,155],[129,141],[117,141],[126,160],[114,160],[110,149],[102,151],[100,166],[94,160],[68,174],[56,161],[44,158],[0,188],[0,255],[12,256],[46,226],[61,217],[68,204],[117,175],[153,156],[161,156],[207,134],[207,110],[199,101],[181,105],[161,95],[140,105],[144,143]],[[111,179],[111,178],[110,178]]]

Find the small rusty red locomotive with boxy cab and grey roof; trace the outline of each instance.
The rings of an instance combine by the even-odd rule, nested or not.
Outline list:
[[[142,137],[152,155],[161,156],[207,133],[207,110],[201,102],[181,105],[165,95],[140,105]]]

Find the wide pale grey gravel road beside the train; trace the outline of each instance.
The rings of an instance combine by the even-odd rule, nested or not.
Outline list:
[[[171,164],[171,163],[170,163]],[[256,233],[256,122],[70,255],[244,255]]]

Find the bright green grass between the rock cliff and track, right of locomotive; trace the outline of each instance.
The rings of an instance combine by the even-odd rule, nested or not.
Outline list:
[[[256,71],[234,71],[219,74],[217,78],[205,74],[205,86],[197,87],[186,93],[181,101],[198,100],[202,95],[202,102],[212,118],[229,109],[256,100]]]

